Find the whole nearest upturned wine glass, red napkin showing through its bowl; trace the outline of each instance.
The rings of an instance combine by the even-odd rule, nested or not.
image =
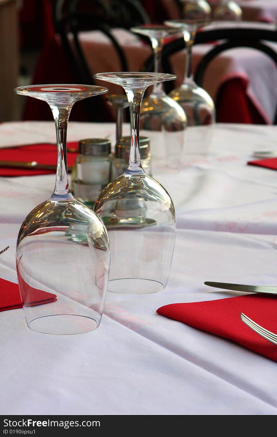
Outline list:
[[[67,123],[76,101],[107,91],[75,84],[14,90],[46,101],[56,125],[53,194],[27,215],[17,240],[19,290],[27,325],[34,331],[83,333],[95,329],[101,321],[109,276],[109,238],[101,219],[70,192]]]

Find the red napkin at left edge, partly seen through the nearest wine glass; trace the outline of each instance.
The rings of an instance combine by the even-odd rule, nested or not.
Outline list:
[[[26,284],[22,278],[21,281],[22,285],[24,283],[25,289],[27,290],[25,305],[42,305],[57,300],[56,295],[47,293],[46,291],[37,290]],[[22,308],[18,284],[0,278],[0,311],[7,311],[8,309],[16,308]]]

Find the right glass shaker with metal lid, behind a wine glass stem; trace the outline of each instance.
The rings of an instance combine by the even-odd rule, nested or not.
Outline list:
[[[124,173],[129,165],[130,136],[123,136],[119,144],[116,144],[115,154],[112,158],[111,181]],[[145,173],[152,176],[150,139],[140,136],[140,160]]]

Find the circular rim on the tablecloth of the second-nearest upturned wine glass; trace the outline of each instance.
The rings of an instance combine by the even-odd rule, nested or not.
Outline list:
[[[112,293],[146,295],[162,291],[165,286],[152,279],[142,279],[137,277],[111,279],[108,283],[108,291]]]

